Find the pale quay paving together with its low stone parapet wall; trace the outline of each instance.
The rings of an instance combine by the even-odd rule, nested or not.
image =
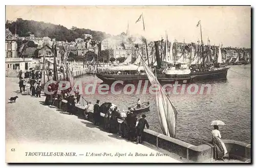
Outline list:
[[[61,109],[58,109],[57,100],[54,102],[55,107],[48,107],[42,105],[45,100],[44,96],[34,98],[31,95],[13,92],[13,88],[18,90],[17,82],[18,78],[6,78],[6,85],[8,86],[6,88],[6,101],[8,102],[8,99],[15,95],[19,96],[16,103],[6,106],[6,142],[8,146],[9,143],[10,145],[13,144],[13,140],[19,144],[40,142],[40,146],[38,145],[36,148],[40,148],[46,143],[54,145],[54,149],[60,144],[68,144],[65,145],[67,149],[69,145],[74,144],[79,145],[81,149],[81,145],[88,149],[92,149],[92,146],[96,145],[97,148],[94,151],[98,150],[99,153],[102,153],[102,150],[114,150],[114,153],[118,153],[117,155],[120,156],[118,159],[113,157],[104,160],[104,162],[130,162],[131,160],[132,162],[215,162],[213,159],[214,149],[209,143],[194,146],[182,140],[145,129],[143,145],[136,145],[136,143],[120,138],[116,134],[102,131],[90,121],[81,119],[84,109],[81,105],[76,106],[77,118],[75,115],[66,115],[68,113],[66,112],[67,102],[65,100],[62,100]],[[121,119],[118,122],[119,124],[122,123]],[[229,139],[223,139],[223,142],[227,148],[229,159],[250,162],[250,144]],[[59,148],[61,149],[61,147]],[[106,151],[106,154],[108,152]],[[124,156],[125,153],[128,155],[130,152],[135,154],[132,158]],[[84,155],[87,154],[83,153]],[[94,153],[97,154],[97,152]],[[143,157],[143,154],[150,155],[151,153],[155,153],[155,157]],[[43,160],[40,159],[40,161]],[[54,161],[56,160],[54,159]],[[69,162],[67,159],[63,161]],[[84,162],[88,161],[92,160],[84,160]],[[95,161],[103,162],[101,158]]]

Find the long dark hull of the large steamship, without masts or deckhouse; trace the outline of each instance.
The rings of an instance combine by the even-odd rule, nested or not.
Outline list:
[[[187,75],[165,75],[157,74],[157,79],[160,83],[190,83],[205,80],[220,80],[227,79],[227,71],[229,67],[220,68],[211,71],[201,71],[198,73],[190,73]],[[96,74],[103,83],[114,83],[115,81],[123,81],[124,83],[134,83],[140,80],[148,80],[146,75],[117,75],[117,74]]]

